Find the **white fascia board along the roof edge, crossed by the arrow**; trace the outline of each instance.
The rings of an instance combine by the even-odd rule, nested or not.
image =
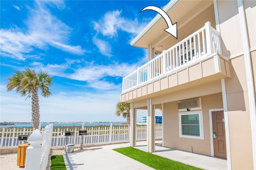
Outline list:
[[[163,10],[165,12],[168,12],[176,3],[178,3],[180,0],[171,0],[164,8]],[[140,31],[140,33],[130,42],[130,45],[134,45],[135,43],[137,43],[140,38],[145,35],[148,30],[150,30],[160,19],[162,18],[162,16],[160,16],[160,14],[157,14],[155,18],[153,18],[153,20],[150,21],[150,23],[148,23],[148,25],[146,27],[144,27],[144,29],[142,29],[142,31]]]

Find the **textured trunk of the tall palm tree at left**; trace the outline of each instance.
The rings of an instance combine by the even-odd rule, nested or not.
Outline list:
[[[40,111],[39,111],[39,96],[38,90],[32,91],[32,123],[35,129],[38,129],[40,124]]]

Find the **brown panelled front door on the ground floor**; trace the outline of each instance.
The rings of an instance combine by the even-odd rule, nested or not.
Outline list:
[[[225,123],[223,111],[212,112],[212,131],[214,156],[219,158],[227,158]]]

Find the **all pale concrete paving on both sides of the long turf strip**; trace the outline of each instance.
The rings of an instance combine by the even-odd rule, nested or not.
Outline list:
[[[156,141],[162,143],[162,141]],[[146,151],[146,141],[136,143],[137,149]],[[124,156],[112,149],[129,147],[129,143],[102,145],[97,147],[90,147],[92,152],[80,152],[65,154],[64,160],[66,162],[67,170],[149,170],[152,169],[132,158]],[[164,148],[156,145],[156,152],[153,154],[163,156],[172,160],[196,166],[206,170],[226,170],[227,163],[224,159],[213,158],[210,156],[203,156],[180,150]]]

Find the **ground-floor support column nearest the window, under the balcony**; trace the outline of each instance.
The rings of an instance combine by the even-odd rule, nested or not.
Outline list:
[[[155,152],[155,106],[151,99],[148,99],[147,143],[148,152]]]

